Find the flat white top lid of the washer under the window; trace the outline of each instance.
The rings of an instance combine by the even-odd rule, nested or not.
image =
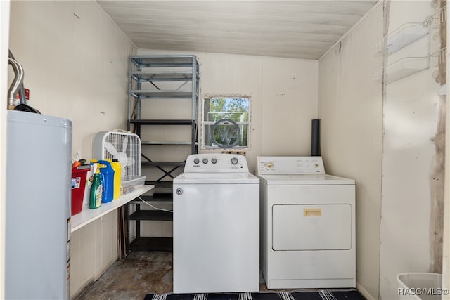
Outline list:
[[[174,184],[255,184],[259,178],[251,173],[182,173]]]

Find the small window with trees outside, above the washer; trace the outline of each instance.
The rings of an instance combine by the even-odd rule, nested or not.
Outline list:
[[[203,149],[250,148],[250,97],[203,99]]]

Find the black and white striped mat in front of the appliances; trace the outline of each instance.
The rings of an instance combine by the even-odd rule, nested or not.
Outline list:
[[[147,294],[144,300],[366,300],[356,289],[305,289],[290,292]]]

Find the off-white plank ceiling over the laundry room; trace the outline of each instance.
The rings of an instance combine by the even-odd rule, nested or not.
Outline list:
[[[316,60],[377,0],[97,0],[139,48]]]

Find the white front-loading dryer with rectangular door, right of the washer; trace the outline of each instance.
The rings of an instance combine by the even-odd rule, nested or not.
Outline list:
[[[321,157],[257,157],[269,289],[356,287],[355,181]]]

